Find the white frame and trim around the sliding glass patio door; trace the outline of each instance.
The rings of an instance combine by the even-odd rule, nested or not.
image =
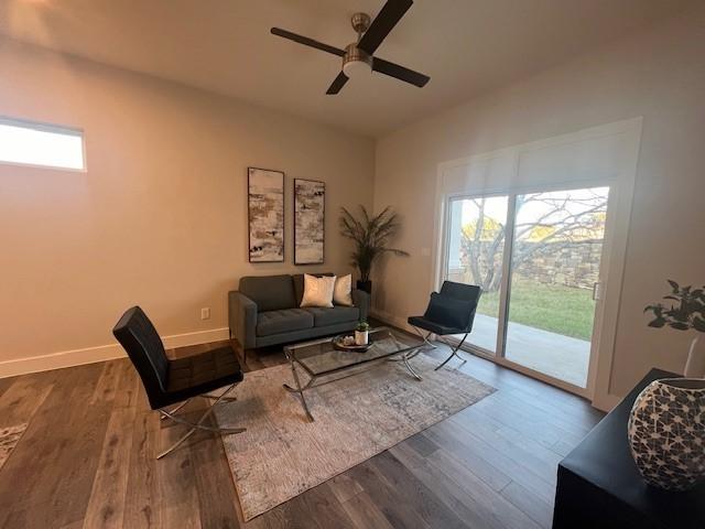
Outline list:
[[[598,409],[608,411],[619,402],[619,396],[610,392],[610,379],[611,369],[614,364],[614,348],[615,339],[617,335],[617,322],[619,319],[619,307],[621,298],[621,284],[623,279],[623,269],[627,253],[629,220],[631,217],[631,206],[634,190],[634,180],[637,174],[637,166],[639,160],[639,150],[641,144],[641,130],[642,130],[641,117],[626,119],[622,121],[616,121],[608,125],[592,127],[583,129],[577,132],[571,132],[553,138],[532,141],[514,145],[511,148],[499,149],[484,154],[476,154],[471,156],[465,156],[457,160],[451,160],[448,162],[442,162],[437,166],[437,180],[436,180],[436,198],[435,198],[435,217],[434,217],[434,231],[436,245],[433,248],[433,267],[430,277],[430,285],[433,290],[437,290],[443,279],[447,273],[447,257],[448,257],[448,212],[451,199],[462,198],[467,196],[497,196],[497,195],[513,195],[532,193],[532,192],[545,192],[557,190],[571,190],[582,187],[598,187],[609,186],[609,199],[608,199],[608,215],[605,226],[605,239],[604,250],[600,260],[600,277],[599,277],[599,310],[595,311],[595,320],[593,324],[592,336],[592,353],[590,363],[588,368],[587,387],[581,388],[570,382],[565,382],[553,377],[550,377],[543,373],[534,369],[521,366],[519,364],[508,360],[503,356],[495,355],[491,352],[482,349],[477,346],[463,346],[465,350],[487,358],[499,365],[506,366],[510,369],[523,373],[535,379],[542,380],[550,385],[565,389],[578,396],[585,397],[592,400],[593,406]],[[573,180],[568,182],[552,182],[550,184],[541,185],[513,185],[514,180],[509,179],[506,185],[487,185],[487,181],[491,180],[490,176],[481,174],[479,177],[470,177],[468,175],[462,181],[455,181],[454,184],[446,183],[446,173],[451,174],[452,171],[457,171],[464,166],[469,166],[473,163],[487,163],[497,159],[508,159],[510,164],[508,165],[512,176],[519,175],[520,155],[524,152],[531,152],[536,149],[550,148],[553,145],[565,145],[585,140],[600,139],[600,138],[615,138],[616,141],[620,141],[620,161],[617,164],[617,171],[615,174],[610,174],[609,177],[597,179],[584,179]],[[451,181],[453,176],[449,176]],[[463,187],[460,192],[446,192],[445,186]],[[511,204],[513,202],[513,204]],[[516,201],[510,198],[508,208],[516,207]],[[508,210],[508,215],[509,215]],[[513,224],[513,223],[512,223]],[[511,251],[511,245],[513,242],[513,234],[508,234],[505,241],[505,252]],[[509,247],[507,245],[509,244]],[[503,325],[507,320],[508,305],[507,301],[511,295],[510,292],[510,270],[507,268],[510,266],[510,259],[505,259],[502,268],[502,284],[501,289],[508,293],[508,295],[500,295],[500,314],[498,322],[499,325]],[[607,276],[609,274],[609,281]],[[503,302],[502,302],[503,301]],[[501,337],[498,337],[497,350],[502,350],[506,343],[506,327],[503,328]],[[501,347],[500,347],[501,346]]]

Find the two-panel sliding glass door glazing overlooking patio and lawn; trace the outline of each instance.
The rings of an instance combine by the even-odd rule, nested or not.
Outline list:
[[[470,346],[587,386],[609,187],[455,197],[445,279],[478,284]]]

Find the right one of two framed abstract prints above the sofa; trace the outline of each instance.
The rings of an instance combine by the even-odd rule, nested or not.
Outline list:
[[[326,184],[294,180],[294,264],[324,259]]]

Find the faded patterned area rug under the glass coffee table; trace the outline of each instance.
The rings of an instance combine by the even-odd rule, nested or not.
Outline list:
[[[216,411],[220,425],[247,428],[223,438],[245,520],[393,446],[495,391],[456,370],[434,371],[425,355],[412,365],[388,361],[305,392],[308,422],[289,365],[248,373],[238,400]],[[303,382],[302,382],[303,384]]]

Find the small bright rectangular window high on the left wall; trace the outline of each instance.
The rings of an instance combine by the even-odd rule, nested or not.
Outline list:
[[[0,163],[86,169],[78,129],[0,117]]]

